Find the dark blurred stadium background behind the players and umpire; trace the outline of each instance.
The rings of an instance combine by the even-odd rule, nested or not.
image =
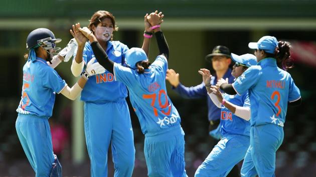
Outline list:
[[[99,9],[112,12],[119,31],[114,39],[129,47],[141,46],[143,16],[159,9],[165,14],[162,29],[170,46],[169,68],[180,73],[187,86],[201,83],[200,68],[212,69],[204,57],[215,45],[226,45],[236,54],[253,53],[249,41],[263,35],[289,40],[295,67],[289,70],[301,90],[302,104],[288,107],[284,141],[277,152],[276,176],[316,176],[316,136],[314,79],[316,67],[315,0],[3,0],[0,6],[0,176],[33,176],[34,172],[17,137],[16,108],[21,98],[23,54],[26,37],[38,27],[50,28],[64,47],[75,22],[87,25]],[[149,59],[157,54],[151,39]],[[74,78],[71,63],[56,70],[69,85]],[[209,143],[206,99],[183,99],[168,83],[168,94],[176,105],[186,132],[186,169],[193,176],[212,147]],[[130,107],[130,110],[132,108]],[[50,124],[55,153],[64,176],[90,176],[85,147],[82,102],[57,95]],[[136,148],[133,176],[146,176],[143,155],[144,136],[131,111]],[[110,153],[109,153],[110,155]],[[229,160],[229,159],[228,159]],[[109,175],[113,163],[109,156]]]

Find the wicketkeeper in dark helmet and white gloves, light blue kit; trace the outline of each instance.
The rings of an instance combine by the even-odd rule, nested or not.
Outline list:
[[[37,28],[27,37],[27,49],[30,52],[26,55],[28,60],[23,67],[22,97],[17,108],[16,129],[36,176],[62,176],[61,165],[53,152],[48,123],[56,93],[62,93],[74,100],[89,76],[104,72],[98,62],[91,60],[78,82],[71,88],[67,86],[53,67],[60,63],[62,56],[73,49],[66,47],[52,60],[57,49],[55,45],[60,41],[61,39],[55,38],[54,33],[47,28]]]

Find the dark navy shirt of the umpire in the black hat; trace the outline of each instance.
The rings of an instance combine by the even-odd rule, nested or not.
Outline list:
[[[232,76],[232,70],[230,68],[225,72],[224,79],[228,78],[228,83],[232,83],[234,81],[234,76]],[[211,84],[216,85],[217,76],[211,77]],[[218,120],[221,116],[220,109],[213,103],[211,98],[208,96],[207,90],[205,88],[205,84],[202,81],[201,84],[191,87],[186,87],[183,84],[179,84],[176,88],[173,87],[175,91],[177,91],[184,98],[204,98],[207,97],[207,106],[208,106],[208,120]]]

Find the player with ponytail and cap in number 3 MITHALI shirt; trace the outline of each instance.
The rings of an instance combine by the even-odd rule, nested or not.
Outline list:
[[[233,84],[219,81],[217,86],[228,94],[249,93],[250,146],[241,175],[274,176],[275,153],[284,137],[287,104],[300,104],[300,91],[285,71],[290,68],[290,44],[287,41],[263,36],[248,46],[255,49],[257,65],[249,67]]]

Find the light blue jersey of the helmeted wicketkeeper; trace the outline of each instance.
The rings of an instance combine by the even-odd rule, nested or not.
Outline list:
[[[33,62],[28,60],[23,66],[22,96],[17,112],[49,118],[53,112],[55,93],[66,85],[46,60],[40,57]]]

